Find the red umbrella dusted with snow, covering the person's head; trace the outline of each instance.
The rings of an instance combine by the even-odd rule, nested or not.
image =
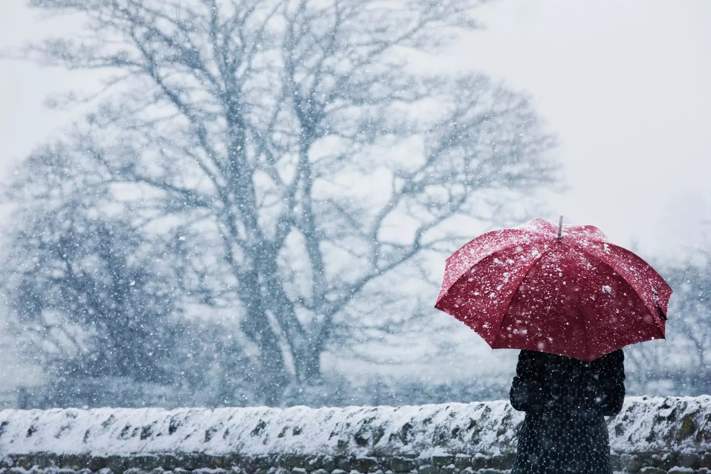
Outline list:
[[[664,338],[672,290],[597,227],[536,219],[476,237],[447,259],[435,308],[491,348],[594,360]]]

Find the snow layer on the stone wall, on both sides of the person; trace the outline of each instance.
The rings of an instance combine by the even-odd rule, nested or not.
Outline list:
[[[508,402],[423,406],[0,411],[0,454],[426,457],[515,451]],[[613,453],[711,451],[711,397],[626,399]]]

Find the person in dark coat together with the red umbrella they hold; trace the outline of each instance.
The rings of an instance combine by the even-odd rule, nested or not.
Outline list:
[[[521,350],[512,474],[611,473],[604,416],[624,400],[621,348],[664,338],[671,293],[640,257],[562,217],[488,232],[447,259],[435,307],[491,348]]]

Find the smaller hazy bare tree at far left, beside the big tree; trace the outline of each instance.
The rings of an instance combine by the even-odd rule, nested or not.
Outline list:
[[[40,151],[11,197],[12,247],[2,271],[26,349],[60,377],[165,383],[172,357],[171,266],[107,195],[100,177]],[[83,191],[82,191],[83,190]]]

